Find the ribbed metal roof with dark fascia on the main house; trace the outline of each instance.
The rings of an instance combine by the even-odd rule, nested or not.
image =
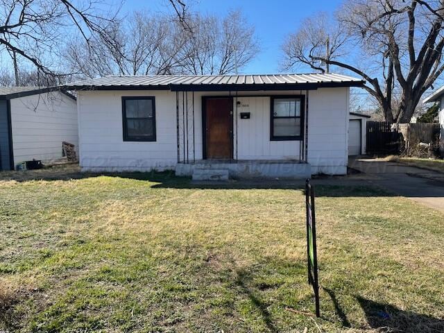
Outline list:
[[[357,87],[364,80],[341,74],[105,76],[65,85],[67,89],[266,90]]]

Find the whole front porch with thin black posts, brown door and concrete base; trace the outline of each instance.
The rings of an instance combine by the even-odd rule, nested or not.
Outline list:
[[[304,121],[309,91],[284,93],[177,91],[176,175],[194,180],[310,177]],[[297,119],[282,118],[297,123],[298,135],[273,137],[274,99],[294,100]]]

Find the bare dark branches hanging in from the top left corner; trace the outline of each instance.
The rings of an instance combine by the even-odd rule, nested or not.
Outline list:
[[[110,15],[100,6],[105,4],[99,0],[0,1],[0,46],[11,55],[16,81],[17,62],[33,65],[44,76],[65,75],[60,67],[60,46],[69,34],[76,34],[88,45],[97,37],[109,40],[107,28],[116,13]]]

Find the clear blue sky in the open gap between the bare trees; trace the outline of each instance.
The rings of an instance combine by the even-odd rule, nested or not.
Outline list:
[[[245,74],[279,73],[282,58],[280,46],[284,38],[295,31],[302,19],[316,12],[333,12],[340,0],[189,0],[193,9],[203,13],[225,15],[230,9],[240,8],[248,22],[253,24],[261,51],[257,58],[243,69]],[[123,10],[146,9],[152,12],[170,10],[167,0],[126,0]],[[309,69],[306,69],[310,71]]]

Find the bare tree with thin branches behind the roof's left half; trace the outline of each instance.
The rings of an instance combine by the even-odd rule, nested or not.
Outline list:
[[[71,40],[65,57],[70,71],[93,78],[106,75],[168,74],[180,40],[174,36],[170,17],[135,12],[126,23],[114,22],[107,40],[100,37],[93,47]]]

